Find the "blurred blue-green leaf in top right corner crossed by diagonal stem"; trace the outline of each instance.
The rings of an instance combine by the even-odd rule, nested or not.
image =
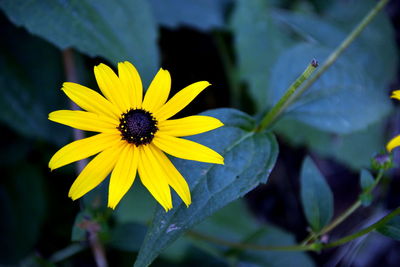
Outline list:
[[[294,12],[274,15],[309,42],[333,50],[375,4],[371,0],[336,1],[322,17]],[[341,57],[356,63],[375,86],[383,89],[396,73],[397,54],[393,26],[386,12],[380,12]]]

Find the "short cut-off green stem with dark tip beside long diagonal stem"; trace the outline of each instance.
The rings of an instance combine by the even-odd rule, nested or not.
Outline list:
[[[264,130],[275,121],[275,119],[287,108],[289,105],[289,99],[296,92],[297,88],[299,88],[300,85],[311,76],[317,66],[317,61],[313,59],[305,71],[289,86],[286,93],[281,97],[281,99],[279,99],[278,103],[276,103],[265,115],[256,131]]]

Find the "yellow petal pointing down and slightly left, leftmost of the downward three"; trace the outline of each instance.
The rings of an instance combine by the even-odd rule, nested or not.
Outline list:
[[[135,180],[138,162],[139,150],[130,144],[125,146],[111,174],[108,191],[108,206],[110,208],[115,209],[122,197],[131,188]]]

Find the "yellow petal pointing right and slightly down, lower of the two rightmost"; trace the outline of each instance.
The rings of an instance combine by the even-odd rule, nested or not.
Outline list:
[[[193,141],[156,134],[153,143],[159,149],[177,158],[224,164],[224,158],[220,154]]]

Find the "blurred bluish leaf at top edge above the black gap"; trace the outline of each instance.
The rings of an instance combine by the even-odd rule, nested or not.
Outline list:
[[[226,0],[150,0],[154,18],[161,25],[170,28],[190,26],[201,31],[224,26],[226,2]]]

